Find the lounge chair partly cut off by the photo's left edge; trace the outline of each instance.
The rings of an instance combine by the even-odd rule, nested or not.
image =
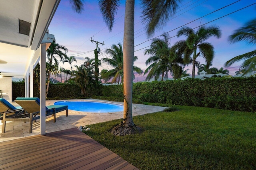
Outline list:
[[[24,109],[16,108],[4,98],[0,98],[0,120],[3,119],[4,112],[6,111],[8,111],[8,113],[6,113],[7,117],[15,117],[21,113],[24,113]]]

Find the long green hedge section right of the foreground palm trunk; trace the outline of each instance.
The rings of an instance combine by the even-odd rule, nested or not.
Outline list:
[[[134,84],[143,102],[256,111],[256,78],[186,79]]]

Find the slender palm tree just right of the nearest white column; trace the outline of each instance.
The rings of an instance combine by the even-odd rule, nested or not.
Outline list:
[[[67,57],[66,53],[68,52],[68,49],[65,46],[59,45],[56,43],[56,40],[54,39],[51,43],[51,45],[48,47],[46,51],[46,55],[48,58],[48,70],[46,72],[47,74],[47,88],[46,88],[46,98],[49,90],[50,85],[50,74],[54,72],[54,68],[58,68],[59,61],[56,57],[60,59],[60,61],[63,60],[64,57]]]

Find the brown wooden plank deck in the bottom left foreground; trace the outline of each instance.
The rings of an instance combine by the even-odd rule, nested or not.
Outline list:
[[[0,169],[138,170],[76,128],[0,142]]]

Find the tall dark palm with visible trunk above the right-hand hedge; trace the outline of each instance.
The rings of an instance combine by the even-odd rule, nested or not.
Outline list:
[[[214,47],[211,43],[206,42],[206,39],[214,36],[216,38],[221,37],[221,31],[219,27],[209,26],[209,27],[200,27],[197,31],[194,31],[191,27],[182,27],[177,34],[177,37],[181,35],[185,35],[186,45],[190,50],[193,50],[193,57],[192,57],[192,78],[195,78],[195,65],[196,65],[196,58],[201,55],[204,57],[206,61],[206,66],[209,66],[212,63],[214,58]],[[199,53],[197,53],[197,49],[199,49]],[[185,56],[190,57],[190,56]]]

